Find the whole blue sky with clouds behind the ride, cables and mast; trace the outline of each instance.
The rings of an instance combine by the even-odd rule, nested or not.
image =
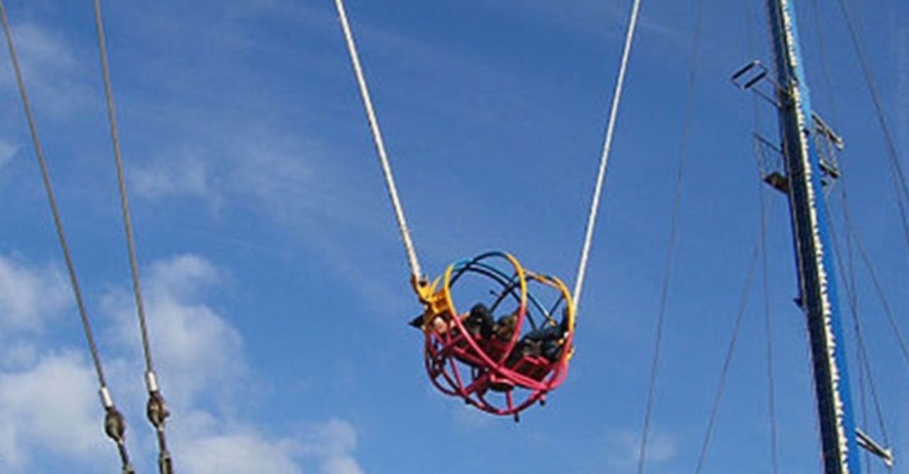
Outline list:
[[[847,3],[905,157],[909,5]],[[420,308],[333,3],[105,3],[177,471],[634,472],[691,71],[694,6],[669,4],[644,3],[568,379],[515,424],[426,380],[422,337],[405,326]],[[754,57],[770,63],[766,28],[748,23],[760,4],[704,2],[648,473],[694,471],[758,240],[754,103],[728,77]],[[813,4],[797,8],[815,109],[846,141],[837,190],[848,190],[854,226],[909,331],[909,249],[882,134],[836,5],[815,22]],[[345,5],[425,272],[500,249],[571,285],[630,3]],[[6,8],[128,446],[139,472],[154,472],[91,5]],[[835,60],[829,86],[818,23]],[[0,470],[115,471],[15,81],[0,64]],[[775,142],[771,107],[758,110]],[[788,218],[783,196],[765,193],[780,467],[812,472]],[[909,366],[856,267],[888,434],[909,452]],[[760,281],[758,272],[745,293],[704,472],[770,469]],[[909,473],[902,463],[895,471]]]

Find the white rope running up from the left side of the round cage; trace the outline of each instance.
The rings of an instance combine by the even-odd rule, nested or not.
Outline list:
[[[350,54],[350,62],[354,66],[356,74],[356,83],[360,86],[360,96],[363,98],[363,105],[366,109],[366,118],[369,120],[369,129],[373,132],[375,141],[375,151],[379,153],[379,162],[382,164],[382,173],[385,174],[385,186],[388,189],[388,197],[392,200],[392,206],[395,207],[395,219],[397,219],[398,229],[401,231],[401,240],[404,241],[405,251],[407,252],[407,262],[410,264],[410,271],[415,281],[423,277],[420,272],[420,262],[416,260],[416,251],[414,242],[410,238],[410,231],[407,230],[407,222],[404,218],[404,208],[398,199],[397,189],[395,188],[395,178],[392,176],[392,168],[388,163],[388,155],[385,153],[385,143],[382,141],[382,133],[379,131],[379,122],[375,118],[373,102],[369,98],[369,90],[366,88],[366,79],[363,75],[363,68],[360,66],[360,58],[356,54],[354,44],[354,35],[351,34],[350,25],[347,23],[347,15],[344,10],[342,0],[335,0],[335,6],[338,10],[338,18],[341,20],[341,28],[344,30],[345,40],[347,42],[347,52]]]

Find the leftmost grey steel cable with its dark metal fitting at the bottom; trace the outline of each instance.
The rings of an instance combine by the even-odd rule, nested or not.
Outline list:
[[[101,357],[98,355],[98,349],[95,344],[95,337],[92,332],[92,326],[88,320],[88,313],[85,311],[85,302],[82,298],[82,291],[79,288],[79,281],[75,275],[75,265],[73,263],[73,258],[70,255],[69,246],[66,243],[66,235],[63,228],[63,222],[60,219],[60,212],[57,208],[56,199],[54,197],[54,188],[51,185],[50,174],[47,172],[45,154],[41,147],[41,140],[38,137],[37,126],[35,125],[35,115],[32,114],[32,107],[28,101],[28,94],[25,90],[25,81],[22,78],[22,69],[19,67],[19,60],[15,53],[15,44],[13,43],[13,35],[10,32],[9,20],[6,17],[6,8],[2,0],[0,0],[0,23],[3,24],[6,47],[9,52],[10,61],[13,64],[15,82],[19,89],[19,96],[22,100],[23,109],[25,110],[25,120],[28,123],[28,131],[32,137],[32,145],[35,149],[35,158],[38,162],[38,168],[41,171],[41,178],[45,186],[45,193],[47,194],[47,203],[50,207],[51,215],[54,220],[57,240],[59,241],[60,249],[63,252],[66,272],[69,275],[70,286],[72,287],[75,296],[76,308],[78,309],[79,318],[82,322],[82,329],[85,332],[85,341],[88,344],[88,351],[91,354],[92,365],[95,368],[95,376],[98,380],[99,387],[98,394],[101,399],[101,405],[105,410],[105,434],[116,444],[117,452],[120,455],[122,474],[135,474],[135,470],[130,463],[129,453],[126,449],[125,444],[126,423],[123,415],[120,413],[120,410],[116,409],[114,398],[111,396],[110,390],[107,388],[104,369],[101,365]]]

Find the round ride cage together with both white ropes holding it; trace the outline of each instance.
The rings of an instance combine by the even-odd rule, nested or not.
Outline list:
[[[335,0],[338,20],[350,55],[370,132],[373,135],[395,222],[401,232],[411,284],[424,305],[424,313],[411,321],[425,334],[425,366],[430,380],[441,391],[463,398],[480,410],[514,415],[558,387],[566,375],[573,351],[575,304],[580,300],[596,215],[603,190],[615,118],[640,2],[635,1],[615,84],[603,153],[596,173],[594,193],[581,245],[574,292],[557,278],[527,272],[504,252],[487,252],[456,262],[432,283],[417,259],[414,239],[398,197],[394,173],[375,116],[363,66],[356,52],[344,1]],[[458,295],[453,297],[456,288]],[[458,312],[454,301],[473,301],[474,307]],[[561,319],[556,321],[553,315]],[[477,320],[480,321],[476,324]],[[470,321],[470,322],[468,322]]]

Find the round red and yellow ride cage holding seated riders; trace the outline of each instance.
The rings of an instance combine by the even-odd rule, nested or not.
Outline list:
[[[416,290],[425,305],[426,371],[445,394],[516,419],[564,380],[574,304],[559,279],[524,270],[508,253],[487,252],[449,265]],[[474,306],[458,311],[455,300]]]

